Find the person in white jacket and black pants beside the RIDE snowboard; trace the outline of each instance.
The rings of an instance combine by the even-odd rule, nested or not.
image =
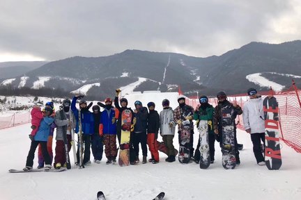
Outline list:
[[[243,122],[245,131],[251,135],[253,152],[258,165],[265,165],[261,153],[261,140],[265,141],[265,121],[263,120],[263,99],[257,94],[256,89],[247,90],[249,100],[243,106]]]

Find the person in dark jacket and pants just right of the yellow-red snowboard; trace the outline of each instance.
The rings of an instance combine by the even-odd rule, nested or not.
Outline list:
[[[134,151],[136,153],[136,163],[139,163],[139,143],[141,143],[142,149],[142,164],[146,163],[147,157],[147,147],[146,147],[146,128],[147,128],[147,118],[148,118],[148,110],[146,107],[142,106],[141,101],[134,102],[135,110],[134,117],[136,118],[136,124],[134,124],[134,133],[133,136],[133,144]]]

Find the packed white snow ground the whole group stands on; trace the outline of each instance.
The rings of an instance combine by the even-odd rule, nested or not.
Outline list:
[[[140,100],[146,106],[154,101],[156,110],[162,110],[162,99],[169,99],[171,106],[178,106],[176,92],[144,92],[126,95],[129,106]],[[258,166],[252,151],[252,142],[245,131],[238,130],[238,142],[244,144],[240,151],[240,166],[233,170],[222,167],[221,151],[215,143],[215,163],[208,169],[199,165],[165,162],[160,153],[160,163],[146,163],[119,167],[106,165],[105,153],[100,164],[92,163],[84,169],[72,165],[72,169],[59,172],[10,174],[8,169],[22,169],[29,151],[30,124],[0,130],[0,199],[96,199],[102,190],[108,200],[153,199],[159,192],[164,199],[300,199],[301,154],[281,142],[283,164],[277,171]],[[199,137],[194,130],[194,148]],[[54,133],[55,135],[55,133]],[[162,140],[159,135],[158,140]],[[173,143],[178,149],[177,136]],[[55,139],[53,141],[53,151]],[[73,163],[72,151],[70,158]],[[140,159],[142,158],[140,152]],[[148,152],[148,158],[150,153]],[[91,154],[91,160],[93,156]],[[37,167],[37,158],[34,160]]]

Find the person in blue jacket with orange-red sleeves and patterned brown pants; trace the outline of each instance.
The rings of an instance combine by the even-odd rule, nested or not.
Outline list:
[[[112,99],[105,99],[105,110],[102,111],[100,117],[100,136],[104,138],[105,155],[107,157],[107,165],[116,163],[117,147],[116,147],[116,116],[115,109],[112,106]]]

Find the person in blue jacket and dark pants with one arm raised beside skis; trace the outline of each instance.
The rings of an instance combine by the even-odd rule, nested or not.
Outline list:
[[[81,122],[82,122],[82,140],[84,143],[84,158],[83,163],[91,164],[90,155],[91,155],[91,135],[94,133],[94,119],[93,119],[93,113],[91,113],[88,109],[92,106],[92,102],[89,103],[87,106],[87,103],[85,100],[79,101],[79,110],[77,110],[75,104],[77,102],[77,99],[81,99],[82,95],[76,95],[72,99],[71,103],[71,110],[73,114],[75,115],[76,119],[76,126],[75,126],[75,133],[79,132],[79,110],[81,113]],[[79,160],[79,149],[77,148],[77,160]]]

